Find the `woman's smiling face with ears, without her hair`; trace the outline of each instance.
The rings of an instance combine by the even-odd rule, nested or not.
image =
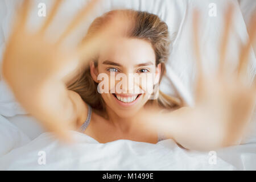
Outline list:
[[[90,68],[107,107],[123,118],[146,104],[161,69],[151,43],[136,38],[115,38],[101,49],[98,67]]]

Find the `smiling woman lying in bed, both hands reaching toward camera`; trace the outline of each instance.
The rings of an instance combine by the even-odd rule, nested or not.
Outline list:
[[[50,43],[43,35],[60,2],[55,2],[43,27],[32,34],[25,26],[30,1],[24,1],[2,65],[3,76],[16,99],[48,130],[62,138],[68,138],[68,129],[80,130],[100,143],[117,139],[156,143],[158,135],[163,134],[185,148],[197,150],[241,141],[255,103],[254,88],[244,85],[237,76],[230,81],[224,72],[206,78],[199,69],[193,108],[180,107],[178,100],[162,92],[156,100],[149,100],[152,92],[141,82],[132,87],[122,84],[121,92],[113,92],[118,82],[105,81],[112,80],[113,73],[132,73],[135,77],[159,74],[154,81],[147,80],[147,86],[154,88],[160,82],[170,45],[166,24],[144,12],[112,11],[94,20],[84,41],[67,51],[61,46],[63,40],[95,1],[81,11],[86,13],[76,16],[56,43]],[[195,16],[195,30],[197,19]],[[197,39],[195,47],[200,60]],[[241,65],[238,77],[242,78],[245,73]],[[106,76],[105,84],[99,88],[102,80],[98,76],[102,74]],[[135,88],[139,91],[134,92]],[[103,93],[99,93],[101,89]]]

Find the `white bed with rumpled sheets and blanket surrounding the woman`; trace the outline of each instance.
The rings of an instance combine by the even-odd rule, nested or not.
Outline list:
[[[0,56],[10,31],[10,22],[14,13],[15,0],[0,2]],[[35,0],[35,4],[51,1]],[[235,7],[236,23],[229,44],[229,60],[236,60],[239,43],[247,39],[247,27],[256,2],[243,1],[200,1],[200,0],[130,0],[104,1],[87,23],[82,24],[69,41],[76,43],[84,35],[88,24],[96,16],[117,8],[148,11],[159,15],[167,24],[172,39],[167,75],[160,84],[160,90],[171,96],[180,97],[185,104],[193,105],[193,81],[195,61],[191,49],[191,14],[192,9],[200,9],[202,28],[201,44],[204,52],[204,71],[210,73],[216,67],[218,40],[221,35],[223,13],[228,2]],[[55,26],[64,27],[72,15],[86,3],[82,0],[65,1],[55,20]],[[210,16],[209,10],[216,5],[216,16]],[[211,5],[210,5],[211,4]],[[71,8],[72,7],[72,8]],[[33,9],[30,26],[35,28],[42,22],[42,17],[35,16]],[[250,51],[248,79],[255,76],[255,48]],[[205,61],[207,60],[207,61]],[[1,59],[0,59],[1,63]],[[236,61],[231,65],[235,65]],[[56,140],[52,133],[46,132],[35,118],[30,116],[15,101],[8,85],[0,80],[0,169],[1,170],[255,170],[256,169],[256,111],[251,120],[248,134],[242,144],[222,148],[218,151],[193,151],[180,148],[172,139],[162,140],[157,144],[116,140],[99,143],[88,135],[70,131],[76,143],[67,146]],[[45,156],[45,163],[40,163]]]

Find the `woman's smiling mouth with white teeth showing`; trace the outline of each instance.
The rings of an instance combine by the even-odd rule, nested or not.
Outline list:
[[[117,100],[118,104],[122,106],[131,106],[134,105],[139,97],[142,94],[115,94],[113,93],[113,96],[115,97],[115,100]]]

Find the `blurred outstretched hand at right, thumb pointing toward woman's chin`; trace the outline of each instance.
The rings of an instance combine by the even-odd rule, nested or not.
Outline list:
[[[171,113],[143,113],[145,125],[156,128],[181,146],[192,150],[215,150],[240,144],[245,135],[256,101],[256,84],[246,81],[250,46],[255,41],[254,16],[249,27],[250,39],[241,46],[237,71],[224,70],[226,46],[233,9],[230,6],[225,17],[224,34],[220,47],[218,71],[211,76],[203,73],[199,38],[199,12],[193,15],[194,47],[197,60],[195,106],[182,107]],[[150,130],[150,129],[149,129]]]

